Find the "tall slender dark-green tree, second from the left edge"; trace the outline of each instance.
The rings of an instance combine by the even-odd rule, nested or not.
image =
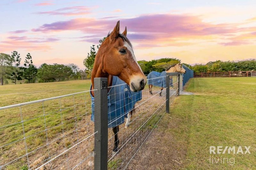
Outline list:
[[[11,73],[11,79],[14,80],[13,83],[15,83],[15,85],[16,85],[16,80],[22,79],[21,78],[22,71],[19,68],[21,58],[20,58],[20,54],[18,54],[17,51],[13,51],[11,56],[12,56],[13,63],[14,63],[14,68]]]

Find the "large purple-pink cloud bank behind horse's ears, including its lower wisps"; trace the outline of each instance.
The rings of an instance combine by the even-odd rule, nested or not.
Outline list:
[[[93,34],[91,37],[83,37],[81,41],[98,42],[112,30],[116,21],[121,21],[121,28],[127,26],[127,37],[139,43],[140,47],[151,47],[152,43],[158,46],[186,46],[191,43],[184,43],[177,39],[204,39],[205,36],[231,36],[232,34],[244,31],[245,28],[238,28],[238,24],[211,24],[203,22],[198,16],[176,15],[176,14],[151,14],[141,15],[135,18],[124,18],[109,20],[109,18],[75,18],[68,21],[53,22],[44,24],[32,29],[33,32],[60,32],[66,30],[81,31],[86,34]],[[250,28],[252,31],[253,28]],[[248,29],[246,30],[248,31]],[[133,32],[129,34],[129,32]],[[222,43],[222,45],[238,44]],[[241,41],[242,42],[242,41]],[[247,41],[243,42],[243,44]]]

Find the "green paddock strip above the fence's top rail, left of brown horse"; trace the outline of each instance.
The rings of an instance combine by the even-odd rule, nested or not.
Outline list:
[[[0,107],[89,90],[91,80],[0,86]]]

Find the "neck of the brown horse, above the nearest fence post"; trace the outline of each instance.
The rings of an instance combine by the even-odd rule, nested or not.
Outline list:
[[[93,69],[92,69],[92,78],[91,78],[92,89],[94,89],[94,78],[108,78],[108,86],[112,85],[113,76],[108,74],[105,71],[104,64],[103,64],[103,57],[100,56],[99,52],[95,56],[95,61],[94,61],[94,64],[93,64]],[[92,91],[92,95],[94,96],[93,91]]]

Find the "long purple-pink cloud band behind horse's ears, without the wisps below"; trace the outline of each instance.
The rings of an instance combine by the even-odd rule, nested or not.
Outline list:
[[[233,33],[235,28],[223,25],[213,25],[202,22],[195,16],[187,15],[142,15],[136,18],[120,19],[128,31],[137,33],[158,33],[168,37],[184,35],[212,35],[221,33]],[[79,30],[84,33],[104,32],[116,24],[116,20],[76,18],[68,21],[44,24],[33,31],[51,32],[64,30]],[[91,29],[93,28],[93,29]],[[168,35],[167,35],[168,34]]]

